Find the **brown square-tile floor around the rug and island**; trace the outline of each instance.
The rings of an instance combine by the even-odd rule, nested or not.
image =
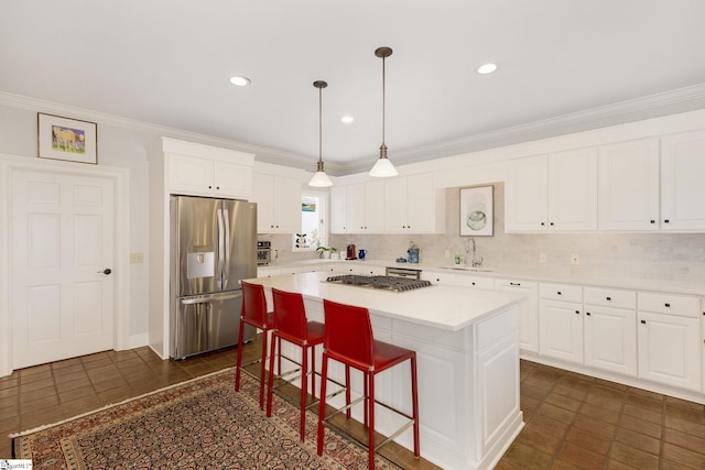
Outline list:
[[[259,343],[245,349],[256,357]],[[235,354],[174,362],[138,348],[0,378],[0,458],[11,457],[10,433],[231,367]],[[521,408],[527,425],[497,469],[705,469],[703,405],[522,361]],[[434,468],[399,447],[382,451],[405,469]]]

